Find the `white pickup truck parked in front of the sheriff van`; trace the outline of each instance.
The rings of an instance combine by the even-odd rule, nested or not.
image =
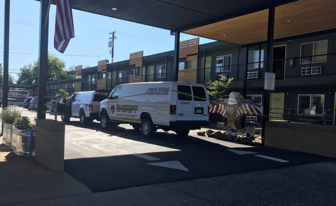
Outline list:
[[[74,100],[71,105],[71,117],[79,118],[80,124],[84,125],[94,119],[99,119],[100,101],[106,99],[111,93],[111,89],[99,89],[96,91],[75,92]],[[65,116],[61,115],[62,121]]]

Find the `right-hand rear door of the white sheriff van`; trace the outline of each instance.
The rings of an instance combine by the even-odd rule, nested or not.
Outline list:
[[[192,120],[208,121],[208,101],[203,86],[191,86],[192,88]]]

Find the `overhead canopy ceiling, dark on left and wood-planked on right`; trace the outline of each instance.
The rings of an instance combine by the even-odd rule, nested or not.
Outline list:
[[[274,39],[336,28],[334,0],[71,0],[71,5],[80,11],[238,45],[266,41],[271,6],[275,7]]]

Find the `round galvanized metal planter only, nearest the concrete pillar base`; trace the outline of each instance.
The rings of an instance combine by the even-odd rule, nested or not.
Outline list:
[[[13,126],[12,152],[17,156],[33,156],[35,154],[35,130],[18,129]]]

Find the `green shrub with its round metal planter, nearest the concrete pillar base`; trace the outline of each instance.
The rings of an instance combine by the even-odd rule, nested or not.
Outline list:
[[[18,156],[35,154],[35,124],[28,117],[18,117],[13,123],[12,151]]]

